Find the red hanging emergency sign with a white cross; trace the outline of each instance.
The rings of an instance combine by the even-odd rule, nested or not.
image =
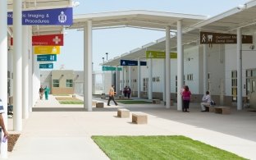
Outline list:
[[[32,37],[33,46],[63,46],[63,34],[36,35]]]

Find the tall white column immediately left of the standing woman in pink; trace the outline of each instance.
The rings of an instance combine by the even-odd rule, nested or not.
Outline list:
[[[184,55],[182,48],[182,27],[181,21],[177,21],[177,62],[178,62],[178,71],[177,71],[177,110],[181,111],[182,109],[182,98],[180,90],[184,85]]]

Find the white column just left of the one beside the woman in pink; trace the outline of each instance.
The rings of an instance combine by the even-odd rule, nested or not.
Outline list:
[[[171,78],[170,78],[170,71],[171,71],[171,62],[170,62],[170,30],[171,27],[166,27],[166,105],[167,108],[171,107],[171,96],[170,96],[170,85],[171,85]]]

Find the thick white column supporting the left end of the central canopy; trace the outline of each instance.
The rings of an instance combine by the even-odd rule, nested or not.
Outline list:
[[[92,111],[92,21],[87,21],[87,24],[84,31],[86,39],[86,44],[84,43],[84,78],[86,82],[86,84],[84,84],[84,107],[87,108],[88,111]]]

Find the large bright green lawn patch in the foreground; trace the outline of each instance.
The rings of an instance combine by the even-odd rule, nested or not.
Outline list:
[[[245,159],[185,136],[92,136],[112,160]]]

